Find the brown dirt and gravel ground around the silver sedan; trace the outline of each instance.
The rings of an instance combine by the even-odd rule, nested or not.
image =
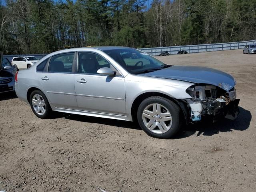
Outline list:
[[[158,56],[236,78],[240,115],[151,138],[132,122],[57,114],[37,118],[0,95],[0,190],[62,192],[255,192],[256,55],[242,50]]]

